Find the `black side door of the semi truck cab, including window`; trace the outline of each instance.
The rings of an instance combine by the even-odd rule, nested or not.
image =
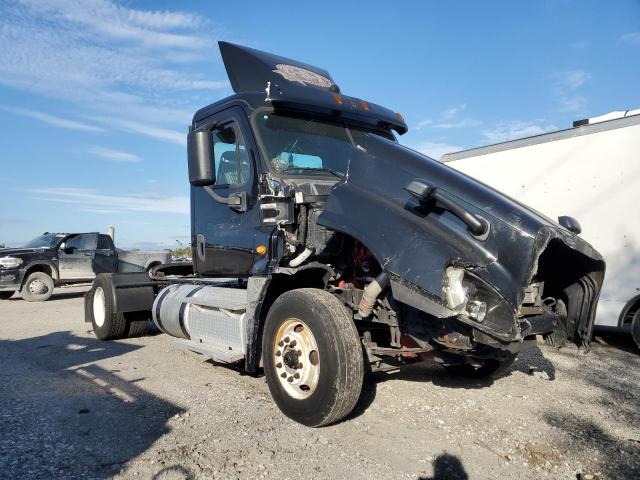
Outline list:
[[[191,187],[195,270],[203,275],[247,276],[256,261],[260,226],[257,150],[239,107],[207,118],[204,128],[213,133],[216,180],[210,187]],[[240,205],[232,205],[231,197]]]

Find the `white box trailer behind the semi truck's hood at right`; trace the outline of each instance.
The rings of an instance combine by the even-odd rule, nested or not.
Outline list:
[[[607,272],[596,327],[640,347],[640,110],[441,159],[550,218],[576,218]]]

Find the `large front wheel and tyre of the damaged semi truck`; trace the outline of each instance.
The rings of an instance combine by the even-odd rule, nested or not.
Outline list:
[[[262,355],[271,396],[296,422],[335,423],[358,401],[360,338],[345,306],[328,292],[303,288],[281,295],[267,315]]]

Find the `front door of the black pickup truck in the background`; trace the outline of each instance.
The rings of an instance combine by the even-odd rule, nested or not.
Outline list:
[[[98,234],[81,233],[65,242],[58,251],[61,280],[89,280],[93,272],[93,257],[98,243]]]

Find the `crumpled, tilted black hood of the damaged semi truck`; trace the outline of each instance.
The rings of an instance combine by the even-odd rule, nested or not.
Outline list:
[[[518,316],[525,288],[544,281],[544,296],[566,303],[568,338],[588,347],[605,264],[587,242],[540,213],[445,164],[377,135],[355,155],[318,223],[364,243],[390,274],[394,297],[431,315],[447,307],[443,275],[463,267],[499,297],[482,324],[461,319],[503,341],[527,334]],[[450,209],[418,202],[407,186],[421,181],[490,228],[477,238]],[[565,320],[563,320],[565,321]]]

